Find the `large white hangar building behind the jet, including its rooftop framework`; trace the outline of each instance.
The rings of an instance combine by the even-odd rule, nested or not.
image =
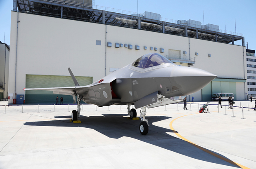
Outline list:
[[[243,34],[210,23],[115,10],[92,0],[14,0],[10,46],[9,96],[25,103],[55,103],[57,96],[73,103],[72,96],[23,89],[73,86],[69,67],[80,85],[88,85],[151,52],[218,76],[193,94],[194,101],[220,92],[246,99]]]

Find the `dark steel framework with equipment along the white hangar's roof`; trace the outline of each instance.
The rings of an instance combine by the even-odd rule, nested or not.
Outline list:
[[[29,14],[102,23],[113,26],[142,29],[159,33],[180,35],[214,42],[232,43],[242,40],[241,33],[220,30],[213,24],[201,25],[199,21],[173,20],[160,14],[124,11],[93,5],[94,0],[14,0],[13,10]]]

